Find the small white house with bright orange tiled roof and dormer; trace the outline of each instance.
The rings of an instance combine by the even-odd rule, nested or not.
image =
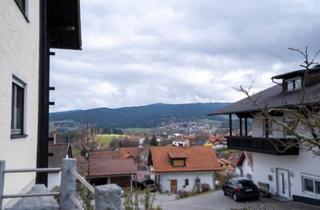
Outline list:
[[[210,147],[151,147],[150,171],[161,192],[195,191],[201,184],[215,187],[216,171],[221,170]]]

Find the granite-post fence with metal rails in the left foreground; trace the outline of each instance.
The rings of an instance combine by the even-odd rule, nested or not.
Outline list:
[[[5,174],[28,173],[28,172],[60,172],[61,186],[60,192],[48,193],[23,193],[23,194],[3,194]],[[81,201],[76,197],[77,180],[94,194],[96,210],[121,210],[121,188],[117,185],[101,185],[93,187],[77,172],[76,159],[64,159],[61,168],[35,168],[35,169],[5,169],[5,161],[0,161],[0,209],[2,200],[8,198],[38,197],[38,196],[60,196],[61,210],[84,210]]]

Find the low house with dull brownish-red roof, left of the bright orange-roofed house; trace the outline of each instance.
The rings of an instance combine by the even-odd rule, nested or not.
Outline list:
[[[96,150],[90,153],[88,161],[78,157],[78,169],[92,184],[118,184],[131,187],[133,181],[143,181],[147,173],[148,147],[121,147],[114,151]],[[89,170],[89,176],[88,176]]]

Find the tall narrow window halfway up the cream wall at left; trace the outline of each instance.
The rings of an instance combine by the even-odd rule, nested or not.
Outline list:
[[[11,136],[24,135],[25,83],[16,77],[12,82]]]

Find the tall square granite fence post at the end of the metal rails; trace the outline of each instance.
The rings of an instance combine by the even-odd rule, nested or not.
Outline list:
[[[63,159],[61,171],[61,210],[74,210],[76,206],[72,201],[72,196],[76,192],[76,177],[71,170],[77,170],[76,159]]]

